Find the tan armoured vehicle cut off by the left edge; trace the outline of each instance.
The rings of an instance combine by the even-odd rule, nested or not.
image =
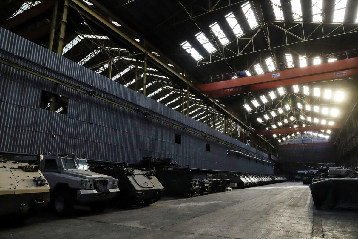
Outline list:
[[[0,215],[29,218],[50,201],[49,186],[37,165],[0,161]]]

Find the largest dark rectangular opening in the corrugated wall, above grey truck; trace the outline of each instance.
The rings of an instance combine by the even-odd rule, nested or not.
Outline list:
[[[62,95],[42,91],[40,108],[55,113],[67,114],[68,98]]]

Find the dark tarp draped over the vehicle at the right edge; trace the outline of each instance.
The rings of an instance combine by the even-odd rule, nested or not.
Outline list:
[[[358,210],[358,178],[322,178],[309,187],[316,209]]]

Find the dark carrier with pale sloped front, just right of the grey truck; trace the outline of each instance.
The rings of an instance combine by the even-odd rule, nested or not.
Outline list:
[[[92,171],[118,179],[120,193],[113,201],[120,206],[153,204],[163,197],[164,187],[155,176],[155,171],[127,168],[124,166],[98,166]]]

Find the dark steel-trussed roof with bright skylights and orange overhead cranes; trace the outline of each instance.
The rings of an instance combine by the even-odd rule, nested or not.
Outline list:
[[[6,0],[1,27],[271,153],[357,103],[355,0]]]

